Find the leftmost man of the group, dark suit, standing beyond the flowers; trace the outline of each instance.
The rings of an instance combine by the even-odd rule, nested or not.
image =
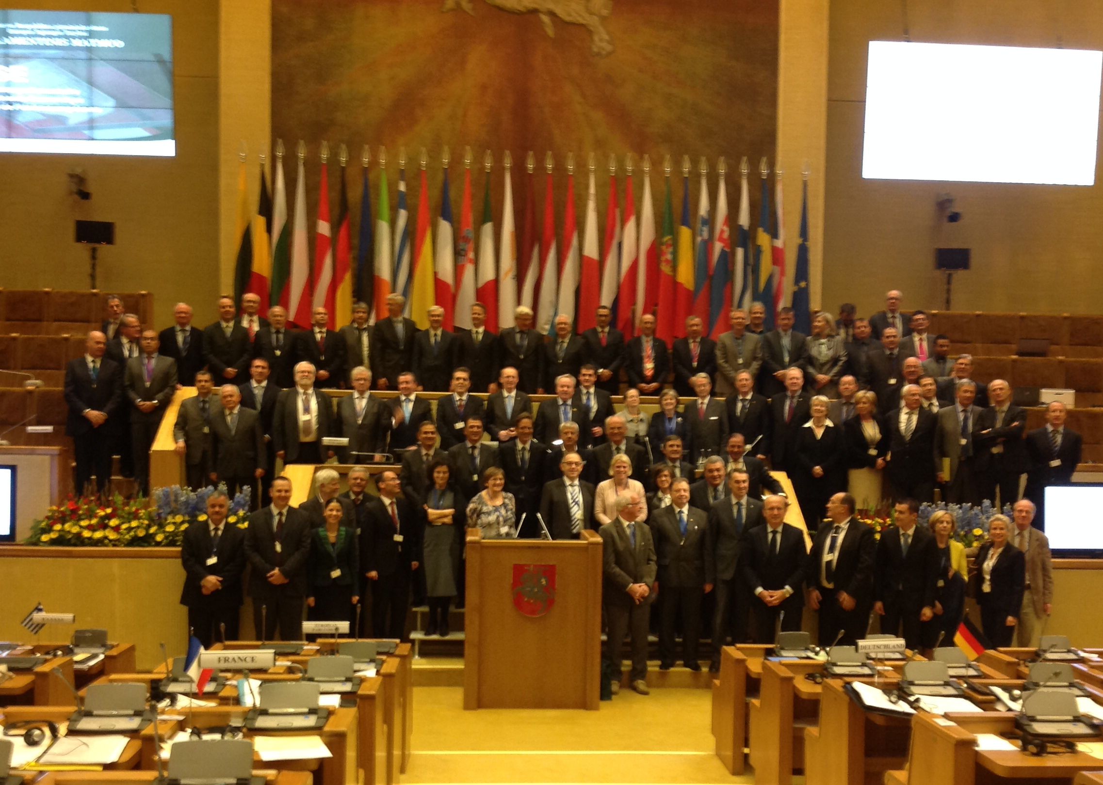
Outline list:
[[[113,418],[122,406],[122,368],[104,357],[107,337],[88,333],[84,356],[65,366],[65,432],[73,439],[76,459],[74,487],[78,495],[95,475],[95,493],[107,493],[111,482]]]

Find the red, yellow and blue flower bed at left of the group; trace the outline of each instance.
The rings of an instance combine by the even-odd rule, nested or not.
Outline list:
[[[218,487],[226,490],[225,485]],[[69,498],[34,521],[25,545],[178,547],[191,524],[206,520],[206,501],[212,493],[214,487],[192,491],[173,485],[156,490],[151,499],[118,495],[109,502],[90,496]],[[226,523],[245,528],[248,509],[249,490],[245,488],[231,501]]]

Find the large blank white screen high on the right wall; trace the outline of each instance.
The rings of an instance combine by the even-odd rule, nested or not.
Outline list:
[[[861,176],[1095,182],[1103,52],[870,41]]]

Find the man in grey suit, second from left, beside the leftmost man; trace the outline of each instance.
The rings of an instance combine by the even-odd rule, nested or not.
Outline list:
[[[141,334],[141,354],[127,363],[124,377],[127,398],[133,407],[130,413],[131,451],[135,458],[135,481],[143,495],[149,495],[149,450],[161,427],[164,409],[176,391],[176,362],[159,354],[161,340],[156,330]]]

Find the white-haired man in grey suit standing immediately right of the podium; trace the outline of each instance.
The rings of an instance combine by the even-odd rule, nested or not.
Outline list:
[[[632,669],[629,682],[640,695],[647,689],[647,622],[651,616],[651,587],[655,582],[657,559],[651,529],[639,520],[643,497],[622,494],[617,497],[617,517],[601,527],[604,581],[601,603],[608,624],[603,669],[612,673],[612,692],[620,692],[621,647],[629,636]]]

